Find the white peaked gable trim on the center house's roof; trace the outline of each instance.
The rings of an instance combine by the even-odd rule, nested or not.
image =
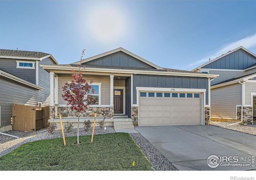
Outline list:
[[[145,59],[141,58],[140,56],[137,56],[136,54],[133,54],[132,52],[130,52],[130,51],[124,49],[124,48],[117,48],[117,49],[114,49],[114,50],[111,50],[111,51],[108,51],[108,52],[104,52],[102,54],[98,54],[96,56],[92,56],[90,58],[86,58],[86,59],[84,59],[84,62],[89,62],[89,61],[92,61],[92,60],[95,60],[95,59],[98,59],[98,58],[102,58],[104,56],[108,56],[110,54],[113,54],[113,53],[116,53],[116,52],[119,52],[119,51],[122,51],[122,52],[124,52],[124,53],[126,53],[126,54],[128,54],[128,55],[130,55],[130,56],[132,56],[132,57],[134,57],[134,58],[136,58],[136,59],[138,59],[138,60],[148,64],[148,65],[150,65],[150,66],[153,66],[156,69],[164,70],[160,66],[157,66],[156,64],[153,64],[152,62],[149,62],[148,60],[145,60]],[[74,62],[72,64],[80,64],[80,61]]]

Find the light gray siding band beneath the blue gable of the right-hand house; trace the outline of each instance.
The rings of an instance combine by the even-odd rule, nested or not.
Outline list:
[[[203,71],[203,70],[202,70]],[[217,84],[219,82],[223,82],[225,80],[229,80],[235,77],[244,76],[245,73],[243,71],[229,71],[229,70],[209,70],[209,74],[219,74],[217,78],[211,81],[211,85]]]

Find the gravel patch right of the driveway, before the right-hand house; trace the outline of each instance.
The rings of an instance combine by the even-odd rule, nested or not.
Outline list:
[[[232,126],[226,126],[228,124],[232,124],[233,122],[220,122],[220,121],[214,121],[214,122],[217,124],[210,122],[210,125],[256,136],[256,127],[255,126],[250,126],[250,125],[244,126],[241,124],[234,124]],[[222,126],[220,126],[219,124]]]

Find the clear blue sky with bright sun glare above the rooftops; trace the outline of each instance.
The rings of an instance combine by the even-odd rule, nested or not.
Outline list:
[[[70,64],[122,47],[192,70],[239,46],[256,54],[256,1],[0,1],[0,48]]]

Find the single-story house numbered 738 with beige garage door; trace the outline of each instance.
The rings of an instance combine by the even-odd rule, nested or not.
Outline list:
[[[52,119],[56,112],[76,117],[62,87],[78,64],[42,65],[50,72],[51,97],[57,97],[51,98]],[[126,115],[134,126],[208,124],[210,80],[218,75],[161,68],[123,48],[87,58],[82,66],[84,78],[93,80],[96,103],[81,116],[97,113],[113,124],[114,115]]]

